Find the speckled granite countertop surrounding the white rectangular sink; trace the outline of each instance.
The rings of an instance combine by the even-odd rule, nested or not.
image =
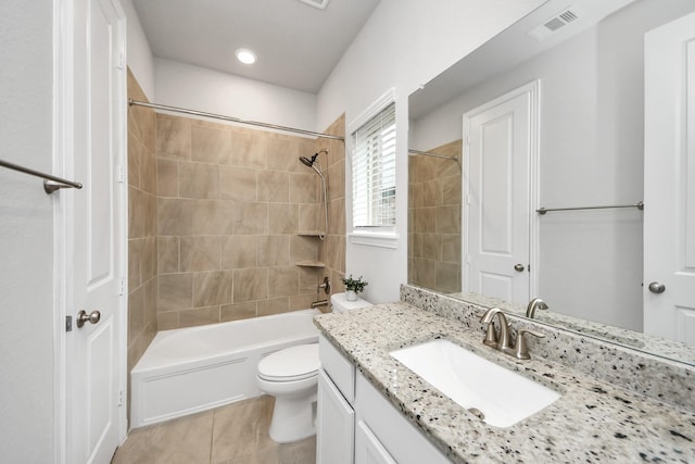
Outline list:
[[[454,462],[695,463],[695,413],[545,360],[517,361],[482,344],[482,331],[457,321],[403,302],[323,314],[314,321]],[[393,349],[435,338],[456,342],[563,396],[509,428],[490,426],[389,355]]]

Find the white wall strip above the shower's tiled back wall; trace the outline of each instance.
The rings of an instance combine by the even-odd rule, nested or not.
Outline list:
[[[313,93],[161,58],[154,59],[154,85],[156,103],[308,130],[316,126]]]

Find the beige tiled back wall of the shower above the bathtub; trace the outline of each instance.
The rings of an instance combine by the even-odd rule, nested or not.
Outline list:
[[[160,330],[304,309],[323,298],[316,286],[324,269],[295,265],[319,259],[319,239],[298,235],[319,226],[319,177],[299,162],[317,143],[156,115]],[[327,272],[344,269],[341,231],[342,244],[333,235],[321,248],[330,252]]]

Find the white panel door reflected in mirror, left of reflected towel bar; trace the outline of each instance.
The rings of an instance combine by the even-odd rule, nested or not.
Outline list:
[[[539,81],[464,115],[463,290],[530,300]],[[533,264],[533,265],[532,265]]]

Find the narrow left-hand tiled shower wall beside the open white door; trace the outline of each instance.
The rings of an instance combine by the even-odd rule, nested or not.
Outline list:
[[[128,97],[147,101],[130,70]],[[157,329],[154,127],[153,110],[128,108],[128,373]]]

